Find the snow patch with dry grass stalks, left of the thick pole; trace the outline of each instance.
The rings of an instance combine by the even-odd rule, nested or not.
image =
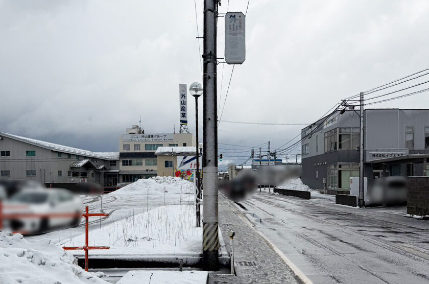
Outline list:
[[[160,206],[118,221],[109,217],[109,225],[89,231],[89,240],[93,246],[110,246],[110,249],[91,250],[91,255],[200,253],[202,229],[195,226],[195,218],[195,205]],[[64,245],[84,244],[82,234]]]

